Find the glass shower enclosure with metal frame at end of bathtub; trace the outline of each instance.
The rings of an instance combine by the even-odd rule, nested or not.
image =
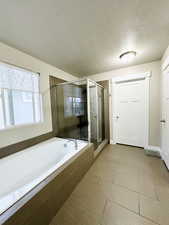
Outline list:
[[[104,88],[84,79],[57,84],[50,90],[55,135],[92,142],[96,149],[105,139]]]

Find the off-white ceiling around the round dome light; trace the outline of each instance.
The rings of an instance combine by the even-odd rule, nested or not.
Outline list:
[[[150,62],[169,44],[169,0],[1,0],[0,40],[77,76]]]

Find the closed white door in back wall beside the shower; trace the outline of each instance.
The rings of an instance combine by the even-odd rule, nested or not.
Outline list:
[[[146,134],[145,79],[115,85],[116,143],[144,147]]]

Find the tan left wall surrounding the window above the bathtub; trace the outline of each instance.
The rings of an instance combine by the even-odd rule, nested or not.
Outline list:
[[[37,125],[1,130],[0,148],[52,131],[49,75],[66,81],[75,80],[77,77],[2,43],[0,43],[0,61],[39,72],[40,89],[42,93],[45,93],[43,95],[44,122]]]

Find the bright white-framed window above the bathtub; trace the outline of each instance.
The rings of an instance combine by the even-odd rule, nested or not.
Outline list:
[[[42,121],[39,74],[0,64],[0,129]]]

